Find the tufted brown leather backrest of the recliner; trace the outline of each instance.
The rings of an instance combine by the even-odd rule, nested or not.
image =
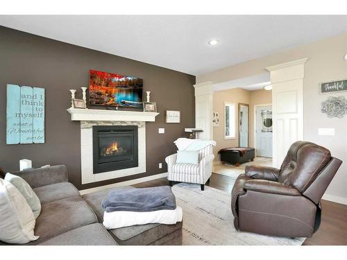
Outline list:
[[[330,162],[330,151],[309,141],[296,141],[288,150],[278,181],[303,193]]]

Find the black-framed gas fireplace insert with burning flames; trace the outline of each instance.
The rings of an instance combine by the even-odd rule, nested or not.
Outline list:
[[[138,166],[137,125],[93,125],[93,173]]]

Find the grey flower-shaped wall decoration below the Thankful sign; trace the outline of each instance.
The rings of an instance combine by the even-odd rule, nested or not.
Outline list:
[[[321,112],[328,117],[338,117],[341,119],[347,114],[347,100],[344,96],[330,96],[328,100],[321,103]]]

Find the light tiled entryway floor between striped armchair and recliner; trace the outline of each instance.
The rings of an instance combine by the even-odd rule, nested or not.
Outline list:
[[[244,173],[244,168],[247,165],[272,166],[272,158],[255,157],[253,162],[246,162],[244,164],[240,164],[240,166],[235,166],[232,164],[218,164],[213,167],[213,173],[237,178],[237,176]]]

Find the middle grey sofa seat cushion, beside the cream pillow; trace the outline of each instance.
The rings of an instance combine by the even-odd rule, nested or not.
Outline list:
[[[40,239],[32,243],[39,244],[71,229],[96,222],[94,212],[81,196],[47,202],[42,205],[41,214],[36,219],[35,234]]]

